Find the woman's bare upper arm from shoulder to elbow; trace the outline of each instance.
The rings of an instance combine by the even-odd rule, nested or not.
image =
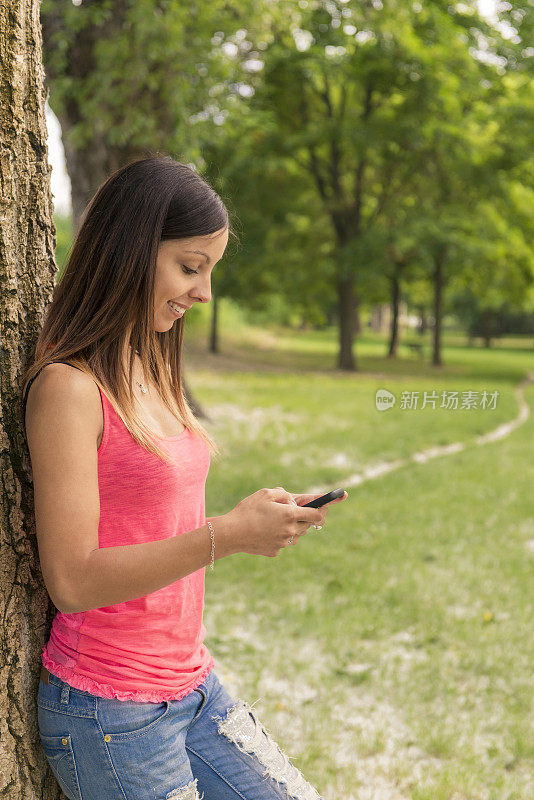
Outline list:
[[[26,435],[41,571],[60,611],[75,607],[77,583],[98,549],[101,425],[100,392],[91,376],[68,364],[47,364],[28,392]]]

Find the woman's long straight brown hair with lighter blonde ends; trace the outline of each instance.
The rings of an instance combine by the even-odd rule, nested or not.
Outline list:
[[[183,317],[168,331],[154,330],[154,277],[160,242],[208,236],[222,228],[235,236],[219,195],[186,164],[150,156],[114,172],[84,211],[24,373],[23,396],[46,364],[70,362],[96,381],[145,450],[172,463],[135,411],[137,351],[145,380],[152,377],[167,408],[220,455],[182,390]]]

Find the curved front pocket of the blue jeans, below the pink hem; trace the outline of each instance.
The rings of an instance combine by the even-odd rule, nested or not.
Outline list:
[[[124,741],[152,733],[166,717],[168,700],[139,703],[135,700],[98,698],[98,721],[105,741]]]

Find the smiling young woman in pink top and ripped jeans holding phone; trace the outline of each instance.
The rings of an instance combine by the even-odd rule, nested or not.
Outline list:
[[[206,566],[274,557],[327,513],[299,508],[317,495],[276,487],[206,519],[219,450],[182,391],[183,320],[210,301],[230,232],[188,166],[119,169],[85,211],[24,376],[39,558],[57,608],[39,732],[70,800],[319,797],[220,683],[203,642]]]

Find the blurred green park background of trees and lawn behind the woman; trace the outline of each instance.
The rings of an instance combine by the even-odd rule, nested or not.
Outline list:
[[[534,5],[43,0],[57,279],[168,154],[226,203],[185,375],[206,501],[349,498],[217,562],[207,645],[327,800],[534,798]]]

